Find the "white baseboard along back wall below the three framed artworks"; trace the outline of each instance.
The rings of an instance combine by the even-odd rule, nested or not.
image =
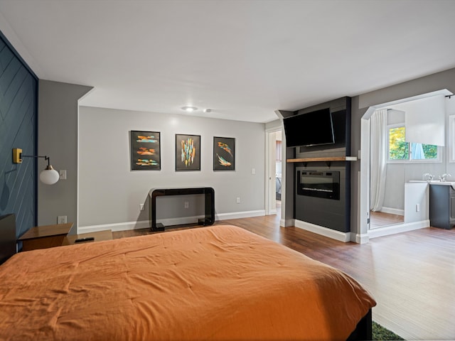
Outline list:
[[[245,212],[231,212],[231,213],[221,213],[215,215],[215,220],[231,220],[239,218],[249,218],[249,217],[261,217],[265,215],[265,210],[257,211],[245,211]],[[161,222],[164,226],[173,226],[181,224],[196,224],[199,219],[202,219],[204,216],[195,216],[195,217],[180,217],[180,218],[170,218],[170,219],[160,219],[156,222]],[[90,233],[103,231],[105,229],[110,229],[113,232],[115,231],[127,231],[129,229],[147,229],[150,227],[149,220],[141,220],[138,222],[118,222],[114,224],[100,224],[100,225],[91,225],[91,226],[82,226],[77,227],[77,233]]]

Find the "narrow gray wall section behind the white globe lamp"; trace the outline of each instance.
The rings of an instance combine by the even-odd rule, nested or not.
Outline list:
[[[65,169],[68,178],[55,185],[38,181],[38,225],[56,224],[58,215],[76,225],[77,100],[92,87],[49,80],[40,80],[38,87],[38,154],[50,156],[50,164]]]

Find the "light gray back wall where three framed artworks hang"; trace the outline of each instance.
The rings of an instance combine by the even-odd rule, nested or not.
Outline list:
[[[264,214],[264,124],[95,107],[80,107],[79,123],[80,227],[148,220],[151,188],[213,187],[219,217]],[[161,132],[161,171],[130,170],[131,130]],[[175,171],[175,134],[201,136],[201,171]],[[213,171],[213,136],[235,138],[235,171]],[[188,213],[181,202],[159,207],[159,218]]]

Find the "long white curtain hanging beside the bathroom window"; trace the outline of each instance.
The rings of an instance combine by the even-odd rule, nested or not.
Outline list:
[[[384,203],[387,173],[387,109],[371,116],[370,210],[380,211]]]

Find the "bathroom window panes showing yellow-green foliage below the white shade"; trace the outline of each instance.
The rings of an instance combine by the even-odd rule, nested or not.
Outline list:
[[[437,162],[439,148],[432,144],[406,142],[406,128],[402,125],[388,126],[389,162]]]

